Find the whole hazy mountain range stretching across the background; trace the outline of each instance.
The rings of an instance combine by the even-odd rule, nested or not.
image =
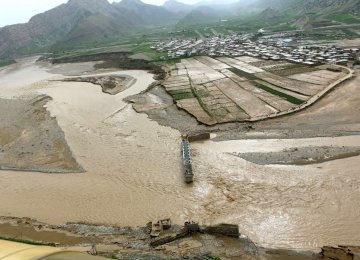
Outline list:
[[[289,17],[298,21],[296,23],[300,28],[311,28],[314,20],[330,20],[334,15],[356,14],[358,17],[360,13],[359,0],[228,2],[227,5],[216,2],[209,6],[206,5],[208,2],[202,2],[205,5],[187,5],[177,0],[168,0],[163,6],[156,6],[141,0],[113,3],[107,0],[69,0],[33,16],[28,23],[0,27],[0,57],[111,41],[136,28],[146,29],[168,24],[208,24],[227,17],[241,17],[243,14],[265,19]]]

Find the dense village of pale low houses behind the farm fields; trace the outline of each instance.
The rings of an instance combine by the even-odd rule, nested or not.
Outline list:
[[[152,49],[167,52],[170,58],[196,55],[207,56],[252,56],[265,60],[288,60],[307,65],[344,64],[359,55],[359,49],[342,49],[329,45],[301,45],[289,35],[254,34],[215,36],[205,39],[174,39],[157,42]]]

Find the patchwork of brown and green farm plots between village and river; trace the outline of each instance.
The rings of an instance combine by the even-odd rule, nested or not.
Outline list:
[[[162,83],[166,91],[179,108],[206,125],[291,112],[346,75],[326,66],[247,56],[189,58],[166,69],[169,76]]]

